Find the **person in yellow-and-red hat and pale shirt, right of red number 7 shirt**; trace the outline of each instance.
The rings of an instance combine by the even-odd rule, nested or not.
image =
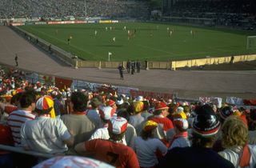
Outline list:
[[[157,122],[149,120],[144,123],[141,136],[135,138],[134,151],[141,167],[156,166],[158,157],[163,157],[167,152],[167,147],[158,138],[154,138],[153,131],[157,127]]]

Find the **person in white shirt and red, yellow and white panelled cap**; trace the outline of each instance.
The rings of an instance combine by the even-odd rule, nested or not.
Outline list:
[[[74,138],[62,120],[50,118],[54,108],[53,99],[49,96],[39,98],[36,103],[38,118],[25,122],[21,128],[22,146],[46,154],[65,153],[74,143]]]

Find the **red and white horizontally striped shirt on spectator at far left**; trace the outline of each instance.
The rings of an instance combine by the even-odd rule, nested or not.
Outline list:
[[[34,118],[35,118],[34,114],[31,114],[30,111],[26,111],[26,110],[15,110],[9,115],[7,124],[8,126],[10,126],[10,130],[14,138],[15,146],[21,146],[20,130],[21,130],[22,124],[28,120],[34,120]]]

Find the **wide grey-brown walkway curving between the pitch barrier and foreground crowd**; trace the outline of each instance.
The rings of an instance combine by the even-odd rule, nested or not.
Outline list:
[[[22,70],[87,82],[177,93],[181,98],[198,98],[199,96],[225,98],[226,95],[256,98],[256,71],[141,70],[141,73],[134,75],[124,73],[125,79],[120,80],[118,69],[75,70],[66,66],[38,50],[7,26],[0,26],[0,36],[0,63],[14,66],[14,54],[18,53],[18,67]]]

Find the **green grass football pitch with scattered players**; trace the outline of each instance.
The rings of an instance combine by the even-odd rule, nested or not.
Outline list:
[[[106,31],[106,26],[112,26],[114,30]],[[126,30],[123,30],[124,26]],[[167,27],[174,30],[171,37]],[[109,52],[112,53],[111,61],[171,61],[256,53],[256,50],[246,50],[246,37],[256,35],[255,32],[242,30],[142,22],[34,25],[21,28],[86,60],[107,61]],[[94,35],[95,30],[98,31],[97,36]],[[128,40],[127,30],[136,30],[134,38]],[[194,30],[194,37],[190,30]],[[67,38],[70,36],[72,39],[68,45]],[[112,40],[114,37],[116,42]]]

